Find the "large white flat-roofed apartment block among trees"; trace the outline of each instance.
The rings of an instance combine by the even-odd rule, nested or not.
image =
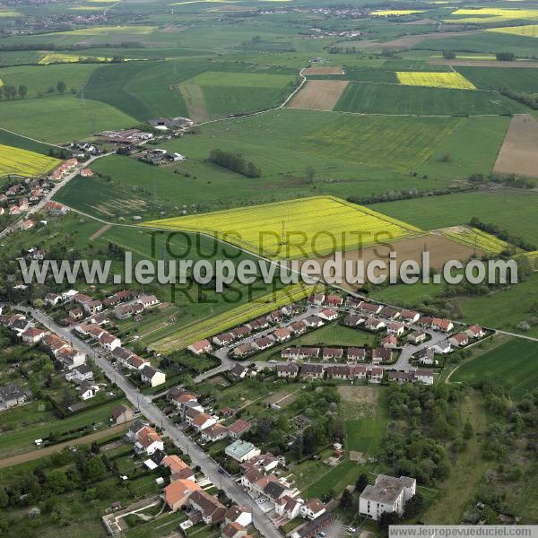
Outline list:
[[[409,476],[386,476],[379,474],[373,486],[367,486],[360,494],[360,516],[379,519],[385,512],[404,513],[405,503],[416,493],[417,481]]]

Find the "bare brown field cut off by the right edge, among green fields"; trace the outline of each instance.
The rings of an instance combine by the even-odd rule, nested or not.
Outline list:
[[[533,116],[512,117],[493,171],[538,178],[538,121]]]

